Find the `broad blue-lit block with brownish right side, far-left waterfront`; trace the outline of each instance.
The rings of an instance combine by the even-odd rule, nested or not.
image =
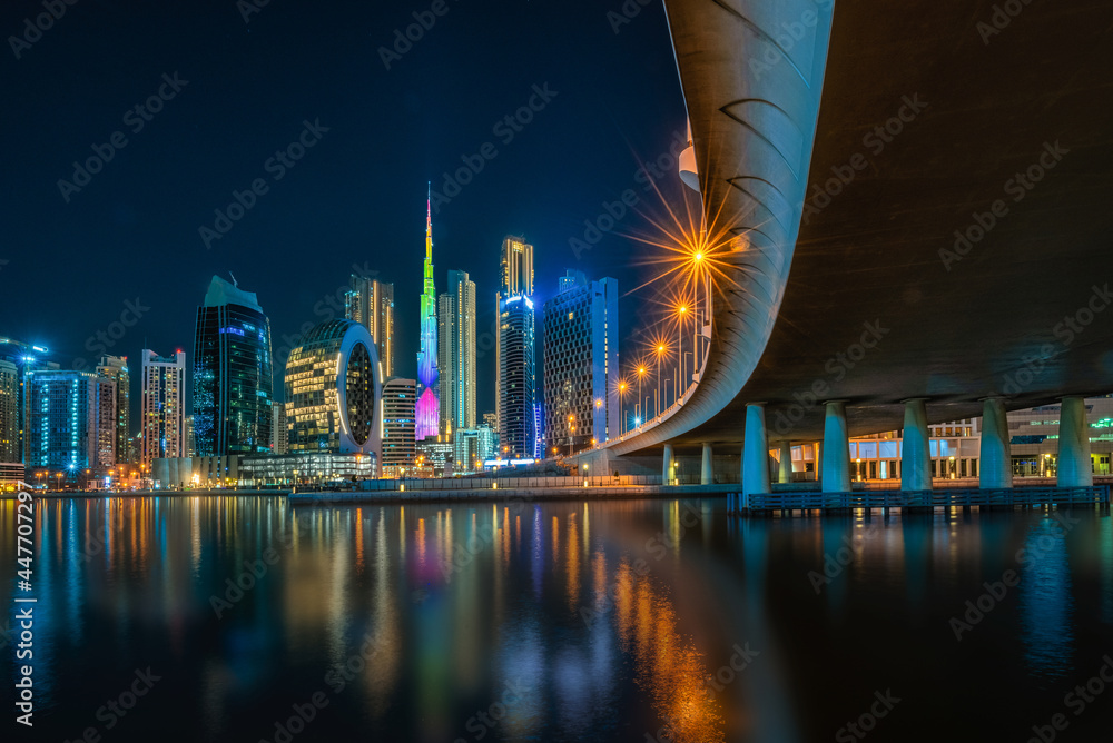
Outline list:
[[[88,371],[27,376],[27,466],[107,469],[116,464],[116,383]]]

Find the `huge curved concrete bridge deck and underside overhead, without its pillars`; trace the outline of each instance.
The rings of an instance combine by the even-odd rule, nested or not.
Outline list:
[[[1113,4],[666,6],[735,280],[697,390],[612,454],[737,453],[759,402],[817,440],[828,399],[854,436],[1113,388]]]

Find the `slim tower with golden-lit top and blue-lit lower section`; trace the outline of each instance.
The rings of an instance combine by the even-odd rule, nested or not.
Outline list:
[[[533,246],[508,237],[502,244],[495,405],[505,458],[536,456],[536,368],[533,317]]]

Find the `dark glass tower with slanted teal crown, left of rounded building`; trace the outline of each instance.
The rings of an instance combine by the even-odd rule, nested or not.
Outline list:
[[[198,456],[270,450],[272,374],[270,321],[258,299],[214,276],[194,340]]]

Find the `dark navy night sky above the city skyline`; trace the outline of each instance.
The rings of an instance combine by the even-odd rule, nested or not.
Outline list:
[[[629,237],[651,230],[644,215],[618,220],[579,259],[569,241],[626,189],[660,216],[639,161],[667,152],[686,115],[659,3],[618,33],[608,18],[618,0],[446,0],[440,17],[427,12],[440,3],[424,0],[270,0],[248,21],[246,0],[57,3],[65,14],[39,37],[24,19],[45,12],[41,0],[0,9],[0,335],[46,345],[63,366],[95,365],[96,334],[129,303],[141,317],[107,350],[181,348],[191,365],[196,308],[211,276],[228,271],[258,294],[284,360],[303,325],[343,316],[356,267],[394,283],[396,373],[412,376],[426,181],[451,194],[443,174],[487,142],[496,155],[433,216],[437,291],[449,269],[477,285],[481,413],[494,408],[483,335],[505,235],[535,246],[539,305],[565,268],[614,276],[623,291],[651,274],[638,265],[647,249]],[[392,49],[387,70],[380,48],[395,44],[414,12],[435,22],[401,59]],[[9,37],[24,34],[30,46],[13,49]],[[166,82],[175,76],[184,82]],[[520,131],[494,129],[534,86],[555,96]],[[160,90],[160,111],[135,111]],[[319,141],[293,167],[268,165],[306,121],[328,131],[306,135]],[[126,143],[106,148],[114,132]],[[73,161],[93,157],[93,146],[115,151],[80,186]],[[256,179],[266,192],[207,247],[199,229],[215,229],[214,211]],[[661,185],[678,192],[674,167]],[[623,298],[623,338],[644,325],[640,306]],[[538,328],[540,340],[540,318]],[[279,397],[280,385],[276,374]]]

